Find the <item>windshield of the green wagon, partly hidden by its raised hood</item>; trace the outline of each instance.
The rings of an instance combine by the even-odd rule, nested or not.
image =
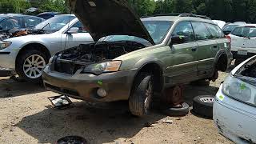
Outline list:
[[[166,37],[168,30],[170,29],[170,26],[172,26],[172,24],[174,23],[170,21],[142,21],[142,22],[146,27],[146,30],[149,32],[151,38],[153,38],[154,43],[156,44],[159,44],[163,41],[163,39]],[[138,38],[138,37],[128,36],[128,35],[111,35],[106,38],[101,38],[101,40],[99,41],[106,41],[106,42],[134,41],[134,42],[140,42],[145,45],[148,45],[150,43],[143,38]]]

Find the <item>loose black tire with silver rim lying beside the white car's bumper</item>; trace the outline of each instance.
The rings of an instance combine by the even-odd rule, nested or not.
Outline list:
[[[202,117],[213,117],[214,96],[202,95],[193,99],[193,112]]]

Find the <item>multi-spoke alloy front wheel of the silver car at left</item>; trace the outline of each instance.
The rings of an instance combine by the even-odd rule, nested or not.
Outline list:
[[[26,65],[30,65],[29,63],[27,63],[27,58],[32,58],[32,56],[37,56],[37,58],[40,58],[40,64],[38,64],[40,66],[35,66],[35,64],[31,64],[31,68],[35,68],[36,70],[36,74],[38,74],[38,76],[35,76],[34,78],[30,78],[27,75],[29,75],[28,73],[25,74],[25,68],[24,66]],[[34,59],[34,61],[36,61],[37,59]],[[32,61],[30,59],[30,61]],[[38,60],[39,61],[39,60]],[[28,82],[34,82],[34,83],[38,83],[42,81],[42,67],[46,66],[46,64],[48,63],[48,58],[46,57],[46,54],[44,54],[42,51],[40,50],[25,50],[22,52],[22,54],[19,55],[17,63],[16,63],[16,73],[18,74],[18,76],[20,78],[24,78],[26,81]],[[38,69],[36,69],[38,68]],[[38,72],[41,71],[41,74]],[[33,73],[34,74],[34,73]],[[32,75],[33,75],[32,74]],[[34,75],[36,75],[34,74]]]

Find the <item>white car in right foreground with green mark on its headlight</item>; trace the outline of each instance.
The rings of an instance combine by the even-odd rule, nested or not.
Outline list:
[[[256,142],[256,56],[234,68],[214,101],[218,131],[235,143]]]

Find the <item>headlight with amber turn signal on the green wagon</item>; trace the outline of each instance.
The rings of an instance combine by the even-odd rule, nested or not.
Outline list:
[[[87,66],[83,72],[92,74],[102,74],[107,72],[118,71],[121,66],[122,61],[112,61],[112,62],[102,62]]]

